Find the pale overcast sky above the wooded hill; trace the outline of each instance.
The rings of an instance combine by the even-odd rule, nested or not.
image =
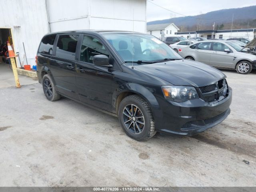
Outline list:
[[[147,5],[147,21],[169,19],[174,17],[182,17],[182,15],[169,12],[154,4],[158,4],[164,8],[184,14],[186,16],[194,16],[204,14],[211,11],[229,8],[239,8],[256,5],[256,0],[148,0]]]

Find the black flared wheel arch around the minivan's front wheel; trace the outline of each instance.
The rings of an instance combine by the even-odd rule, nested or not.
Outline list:
[[[152,91],[154,92],[154,89],[152,89]],[[140,84],[134,84],[134,83],[126,83],[126,84],[120,85],[118,88],[116,88],[116,90],[112,94],[112,98],[113,98],[112,99],[112,112],[116,113],[116,111],[118,110],[116,108],[116,101],[117,101],[118,96],[120,96],[120,94],[122,94],[124,92],[131,92],[134,94],[138,94],[142,98],[144,98],[146,100],[146,102],[148,102],[148,104],[150,105],[150,108],[152,110],[155,121],[156,121],[156,119],[159,119],[162,117],[162,110],[160,109],[160,105],[158,103],[158,100],[154,96],[154,94],[148,88],[146,88]],[[156,124],[157,124],[157,122],[156,122]]]

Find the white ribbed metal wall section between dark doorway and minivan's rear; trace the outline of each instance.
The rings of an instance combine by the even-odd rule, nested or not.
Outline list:
[[[48,33],[45,0],[1,0],[0,28],[11,28],[14,52],[19,52],[21,62],[26,64],[26,60],[23,59],[24,42],[28,64],[35,65],[40,40]],[[16,63],[20,67],[17,58]]]

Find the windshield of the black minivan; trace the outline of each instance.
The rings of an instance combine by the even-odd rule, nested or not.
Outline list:
[[[124,62],[153,63],[183,59],[158,38],[147,34],[103,34]]]

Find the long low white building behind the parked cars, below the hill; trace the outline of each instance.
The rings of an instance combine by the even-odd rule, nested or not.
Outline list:
[[[201,30],[194,32],[176,32],[177,36],[190,37],[204,37],[207,39],[218,38],[228,39],[234,37],[243,37],[252,40],[256,37],[256,29],[233,29],[233,30]]]

